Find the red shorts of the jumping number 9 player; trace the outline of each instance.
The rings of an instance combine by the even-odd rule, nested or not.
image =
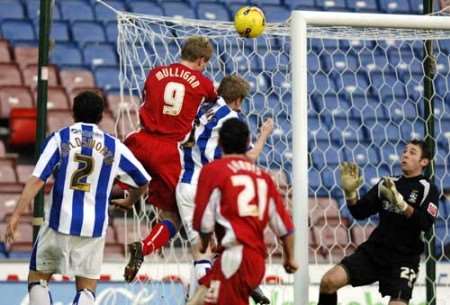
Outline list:
[[[177,212],[175,188],[181,172],[178,143],[161,140],[143,130],[130,134],[124,143],[152,177],[148,202],[162,210]]]

